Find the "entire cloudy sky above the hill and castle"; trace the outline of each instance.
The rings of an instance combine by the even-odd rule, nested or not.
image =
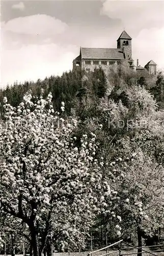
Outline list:
[[[0,86],[61,75],[80,46],[117,48],[124,29],[135,65],[164,69],[164,0],[2,0]]]

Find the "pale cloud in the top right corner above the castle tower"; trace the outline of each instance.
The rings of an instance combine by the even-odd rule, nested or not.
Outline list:
[[[161,27],[164,23],[163,1],[110,1],[102,4],[101,14],[121,19],[127,29]]]

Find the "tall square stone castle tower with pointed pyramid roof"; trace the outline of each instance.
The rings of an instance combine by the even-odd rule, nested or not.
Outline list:
[[[125,30],[117,39],[117,48],[120,49],[120,51],[125,54],[126,59],[130,59],[132,57],[131,39],[132,38],[126,33]]]

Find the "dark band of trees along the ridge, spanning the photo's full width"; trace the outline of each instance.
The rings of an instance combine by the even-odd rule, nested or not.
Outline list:
[[[24,83],[14,82],[5,89],[0,90],[0,101],[7,97],[8,103],[17,106],[23,99],[26,92],[31,91],[33,96],[40,96],[43,91],[43,97],[49,92],[53,96],[53,106],[59,111],[61,102],[65,102],[66,114],[70,115],[71,110],[75,109],[80,103],[80,110],[83,107],[84,100],[93,105],[98,103],[107,89],[112,91],[110,97],[115,101],[122,100],[126,102],[125,88],[134,84],[146,87],[158,102],[160,108],[163,108],[164,99],[164,78],[162,72],[159,72],[157,79],[147,74],[141,76],[132,72],[126,72],[125,69],[111,70],[106,76],[102,69],[95,69],[94,72],[69,71],[62,76],[50,76],[44,80],[38,79],[36,82],[25,81]],[[1,113],[3,109],[1,108]],[[78,113],[80,114],[80,113]]]

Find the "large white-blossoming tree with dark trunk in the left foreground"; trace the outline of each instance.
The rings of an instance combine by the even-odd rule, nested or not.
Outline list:
[[[84,222],[89,227],[111,201],[111,178],[103,178],[103,162],[94,159],[95,135],[84,135],[75,146],[77,120],[54,113],[51,98],[26,94],[17,108],[5,98],[0,132],[1,209],[29,227],[34,256],[61,216],[76,216],[75,228]]]

